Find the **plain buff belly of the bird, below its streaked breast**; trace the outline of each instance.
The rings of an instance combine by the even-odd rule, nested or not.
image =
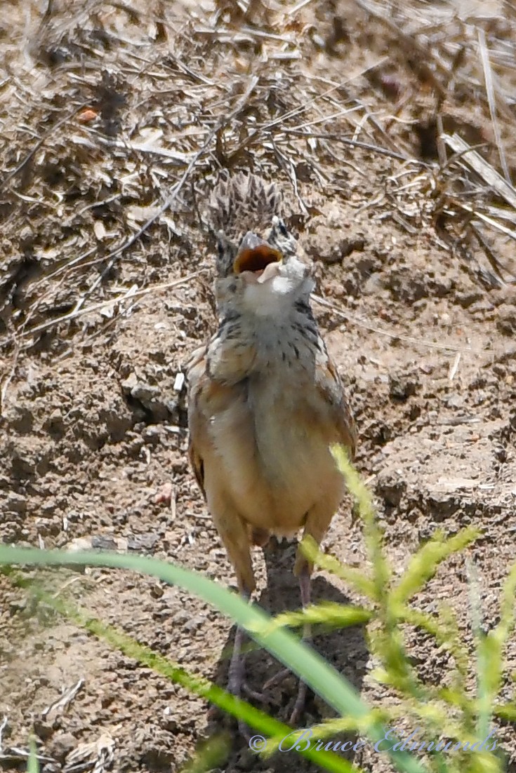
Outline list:
[[[322,500],[337,509],[343,481],[324,428],[299,378],[248,380],[237,400],[210,419],[219,485],[251,526],[289,536]],[[266,379],[264,382],[264,378]],[[222,438],[231,437],[228,444]]]

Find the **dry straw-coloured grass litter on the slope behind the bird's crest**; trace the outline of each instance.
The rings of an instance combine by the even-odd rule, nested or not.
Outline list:
[[[377,165],[378,195],[355,195],[357,211],[429,230],[488,287],[514,282],[514,14],[220,0],[48,2],[43,16],[25,2],[10,19],[7,351],[52,346],[81,315],[114,308],[112,284],[120,297],[132,287],[124,261],[141,265],[138,291],[152,285],[153,244],[191,273],[198,200],[220,169],[285,180],[302,228],[313,207],[300,183],[347,196],[343,172]]]

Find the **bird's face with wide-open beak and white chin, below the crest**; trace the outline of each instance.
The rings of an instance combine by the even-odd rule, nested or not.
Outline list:
[[[248,231],[239,243],[217,234],[220,305],[258,316],[280,316],[313,290],[311,271],[297,257],[297,242],[279,216],[267,235]]]

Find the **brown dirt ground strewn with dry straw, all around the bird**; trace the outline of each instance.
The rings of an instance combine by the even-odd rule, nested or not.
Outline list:
[[[470,640],[466,560],[489,629],[516,538],[516,194],[502,185],[504,168],[516,173],[514,12],[351,0],[244,10],[4,0],[2,540],[149,553],[234,586],[187,465],[180,374],[215,325],[203,196],[221,168],[253,169],[285,190],[289,224],[317,261],[314,310],[395,571],[437,528],[483,531],[418,597],[429,612],[452,604]],[[466,156],[445,166],[441,123],[481,146],[477,172]],[[364,565],[349,506],[325,548]],[[294,550],[256,550],[269,611],[299,606]],[[51,583],[225,685],[234,628],[196,598],[108,570]],[[313,588],[316,601],[361,601],[324,572]],[[419,675],[446,682],[446,652],[407,637]],[[361,628],[314,645],[364,699],[391,700],[369,676]],[[278,668],[258,652],[248,666],[255,689]],[[514,671],[513,638],[504,700]],[[285,679],[269,709],[285,720],[294,695]],[[208,708],[0,577],[2,769],[25,769],[16,750],[32,727],[46,773],[179,771],[223,727],[221,771],[315,769],[292,754],[261,761]],[[329,715],[312,696],[303,723]],[[514,727],[497,737],[516,771]],[[350,759],[391,769],[367,745]]]

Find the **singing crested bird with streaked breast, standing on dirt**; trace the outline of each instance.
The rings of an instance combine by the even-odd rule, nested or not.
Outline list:
[[[205,219],[217,243],[218,328],[186,372],[190,465],[246,600],[255,590],[252,546],[301,529],[321,543],[344,493],[330,445],[343,444],[350,458],[357,447],[354,417],[310,305],[313,265],[284,217],[279,186],[251,172],[221,177],[210,192]],[[303,608],[312,570],[298,547]],[[252,694],[243,642],[237,628],[228,680],[236,696]],[[300,682],[292,724],[305,701]]]

